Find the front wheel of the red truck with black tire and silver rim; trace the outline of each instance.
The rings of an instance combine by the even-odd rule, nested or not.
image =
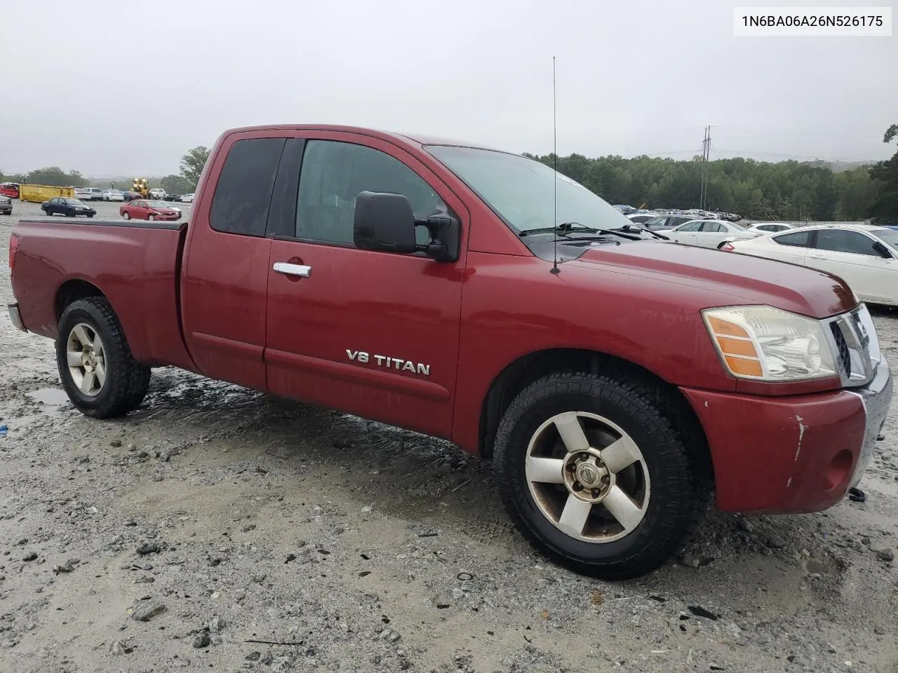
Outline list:
[[[583,372],[536,380],[497,429],[495,469],[524,537],[576,572],[624,580],[674,555],[710,488],[653,384]]]

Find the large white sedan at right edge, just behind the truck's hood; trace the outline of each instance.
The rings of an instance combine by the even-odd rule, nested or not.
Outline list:
[[[898,306],[898,231],[873,225],[823,225],[734,240],[723,249],[828,271],[862,302]]]

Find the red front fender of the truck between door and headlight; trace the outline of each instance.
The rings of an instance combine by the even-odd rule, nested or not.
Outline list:
[[[708,293],[640,275],[471,252],[462,289],[453,441],[479,445],[492,381],[526,354],[579,348],[636,363],[677,385],[735,390],[701,320]],[[689,381],[689,383],[685,383]]]

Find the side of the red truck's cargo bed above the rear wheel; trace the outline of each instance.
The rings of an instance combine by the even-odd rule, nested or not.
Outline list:
[[[186,222],[22,220],[13,293],[25,327],[56,338],[61,300],[103,294],[136,360],[193,370],[180,328]],[[99,292],[97,292],[99,291]]]

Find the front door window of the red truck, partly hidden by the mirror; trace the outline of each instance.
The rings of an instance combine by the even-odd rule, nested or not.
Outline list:
[[[352,245],[356,197],[363,191],[408,197],[418,217],[448,212],[427,182],[395,157],[360,144],[310,140],[299,177],[296,238]],[[418,242],[426,243],[426,229],[417,229]]]

